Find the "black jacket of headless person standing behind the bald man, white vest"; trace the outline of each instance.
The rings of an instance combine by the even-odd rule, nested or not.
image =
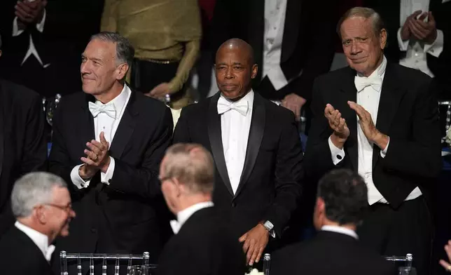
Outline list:
[[[323,8],[327,6],[328,8]],[[265,0],[216,0],[212,22],[214,51],[227,39],[240,38],[254,48],[259,70],[254,88],[265,98],[281,100],[296,93],[309,100],[314,78],[328,72],[335,53],[338,1],[287,0],[280,66],[289,85],[275,93],[260,87],[263,72]],[[300,72],[302,74],[297,77]],[[259,87],[259,88],[258,88]]]

